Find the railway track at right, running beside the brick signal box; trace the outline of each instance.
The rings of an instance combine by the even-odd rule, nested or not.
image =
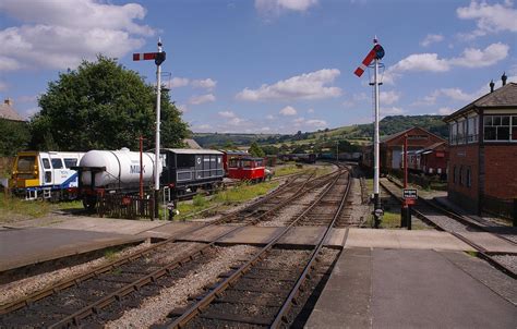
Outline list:
[[[401,190],[400,186],[395,183],[394,181],[382,182],[381,185],[385,188],[393,197],[401,203]],[[501,234],[494,233],[490,228],[485,226],[481,226],[476,223],[472,220],[469,220],[458,214],[452,212],[441,206],[438,206],[435,202],[431,202],[424,198],[419,197],[419,202],[411,207],[411,211],[419,217],[420,219],[424,220],[425,222],[430,223],[434,228],[440,231],[449,232],[454,236],[458,237],[459,240],[464,241],[472,248],[477,251],[477,254],[480,258],[485,259],[494,267],[500,269],[501,271],[505,272],[509,277],[516,279],[517,273],[515,270],[506,266],[505,264],[501,263],[496,257],[496,255],[492,255],[489,253],[484,247],[480,246],[472,240],[461,235],[465,232],[489,232],[492,235],[505,241],[512,245],[516,245],[514,239],[508,239]]]

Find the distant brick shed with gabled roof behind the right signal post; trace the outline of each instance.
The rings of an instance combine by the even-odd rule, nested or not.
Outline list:
[[[408,151],[423,150],[437,144],[446,144],[444,138],[413,126],[399,133],[381,138],[381,171],[389,172],[401,168],[404,154],[404,136],[408,135]],[[363,148],[362,164],[373,167],[373,145]]]

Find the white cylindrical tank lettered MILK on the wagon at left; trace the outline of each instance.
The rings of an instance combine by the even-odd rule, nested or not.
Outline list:
[[[151,185],[154,179],[154,154],[143,153],[143,181]],[[140,153],[120,150],[91,150],[79,164],[83,186],[131,188],[140,186]],[[161,166],[158,166],[158,174]]]

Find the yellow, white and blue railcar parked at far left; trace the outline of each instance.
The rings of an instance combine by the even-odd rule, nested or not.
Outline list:
[[[83,153],[21,151],[16,155],[11,191],[25,199],[73,199],[77,193],[77,166]]]

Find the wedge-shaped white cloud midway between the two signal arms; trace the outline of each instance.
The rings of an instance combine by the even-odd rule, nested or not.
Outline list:
[[[323,69],[279,81],[273,85],[262,85],[258,89],[244,88],[237,94],[241,100],[260,101],[275,99],[322,99],[338,97],[341,89],[327,86],[339,76],[337,69]]]

